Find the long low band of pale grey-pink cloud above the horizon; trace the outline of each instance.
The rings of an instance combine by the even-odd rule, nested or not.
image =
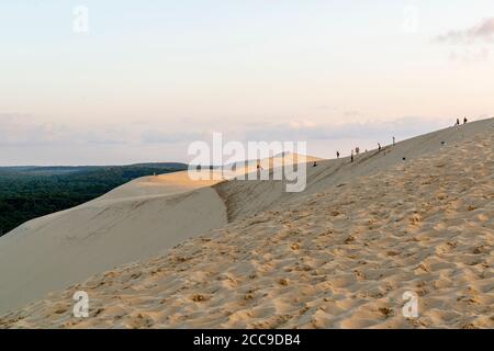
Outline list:
[[[353,113],[352,113],[353,114]],[[228,139],[248,140],[327,140],[379,139],[381,137],[409,136],[448,126],[446,118],[407,116],[392,121],[321,123],[311,120],[290,120],[285,123],[245,122],[234,126],[217,127]],[[171,131],[166,125],[143,123],[136,125],[57,125],[36,121],[22,114],[0,113],[1,146],[98,146],[98,145],[182,145],[194,140],[207,140],[212,131],[195,128]]]

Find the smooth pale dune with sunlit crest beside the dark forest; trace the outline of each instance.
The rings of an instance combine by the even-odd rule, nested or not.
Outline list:
[[[297,156],[284,155],[282,159],[293,163]],[[262,162],[269,163],[269,159]],[[251,172],[256,167],[257,161],[250,161],[229,176]],[[204,172],[217,180],[192,181],[187,171],[143,177],[1,237],[0,313],[224,226],[226,207],[211,188],[224,181],[222,176],[213,177],[221,170]]]

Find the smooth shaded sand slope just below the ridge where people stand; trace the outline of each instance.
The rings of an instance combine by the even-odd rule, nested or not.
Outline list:
[[[307,167],[307,185],[302,193],[287,193],[281,181],[229,181],[214,188],[227,204],[228,218],[248,217],[282,204],[295,197],[306,196],[330,186],[348,183],[359,177],[384,171],[403,163],[403,158],[412,160],[426,155],[441,152],[441,148],[473,138],[484,131],[492,131],[494,118],[478,121],[461,127],[449,127],[396,143],[394,147],[384,146],[381,152],[369,150],[356,157],[350,163],[349,157],[333,160],[318,160],[317,167]],[[442,144],[444,143],[444,144]],[[311,160],[307,160],[310,162]]]

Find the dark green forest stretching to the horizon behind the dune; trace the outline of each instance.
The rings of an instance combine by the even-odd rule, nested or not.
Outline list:
[[[135,178],[187,169],[184,163],[0,167],[0,236],[26,220],[101,196]]]

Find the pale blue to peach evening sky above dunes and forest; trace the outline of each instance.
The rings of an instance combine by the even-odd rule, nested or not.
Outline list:
[[[0,2],[0,166],[333,158],[494,116],[492,0]]]

